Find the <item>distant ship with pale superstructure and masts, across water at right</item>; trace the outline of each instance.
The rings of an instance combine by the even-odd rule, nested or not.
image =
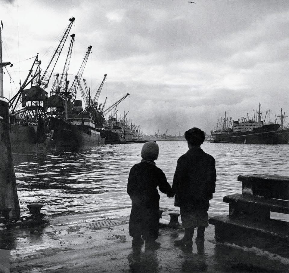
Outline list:
[[[232,121],[226,117],[220,124],[221,128],[211,131],[214,143],[244,143],[244,144],[286,144],[278,136],[280,124],[264,124],[261,121],[260,104],[257,111],[258,119],[242,118]],[[231,125],[231,127],[230,127]]]

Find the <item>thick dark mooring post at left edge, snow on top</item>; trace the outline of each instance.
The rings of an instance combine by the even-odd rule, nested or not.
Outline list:
[[[10,140],[9,104],[0,99],[0,209],[11,208],[9,218],[20,218]]]

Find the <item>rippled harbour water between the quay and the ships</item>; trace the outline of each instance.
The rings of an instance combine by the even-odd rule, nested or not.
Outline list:
[[[172,185],[177,159],[186,142],[157,142],[156,161]],[[141,160],[143,144],[116,144],[45,156],[14,155],[21,214],[29,203],[43,203],[43,213],[56,215],[130,206],[127,178]],[[228,212],[225,195],[241,193],[240,174],[269,173],[289,176],[288,145],[204,143],[202,149],[216,159],[216,193],[209,213]],[[160,207],[176,209],[174,198],[160,193]]]

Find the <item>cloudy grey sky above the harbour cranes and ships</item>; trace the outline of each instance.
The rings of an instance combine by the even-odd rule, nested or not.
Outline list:
[[[108,97],[107,106],[129,93],[118,117],[129,111],[144,132],[209,133],[225,111],[235,120],[251,117],[259,102],[270,121],[281,107],[289,114],[289,1],[194,2],[0,0],[3,61],[14,63],[7,67],[11,84],[4,75],[4,96],[26,78],[33,61],[27,59],[39,53],[47,66],[75,17],[70,76],[92,45],[83,78],[96,92],[107,74],[99,98]],[[60,59],[54,72],[63,66]]]

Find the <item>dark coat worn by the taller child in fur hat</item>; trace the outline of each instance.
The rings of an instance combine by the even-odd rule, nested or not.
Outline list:
[[[216,186],[215,164],[215,159],[199,146],[178,159],[172,183],[175,206],[208,211]]]

